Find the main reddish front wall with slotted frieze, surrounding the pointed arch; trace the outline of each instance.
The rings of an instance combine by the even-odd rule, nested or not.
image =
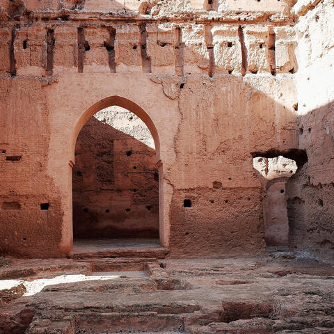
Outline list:
[[[23,253],[70,250],[77,132],[116,104],[155,131],[160,239],[170,255],[264,252],[252,158],[298,148],[295,17],[289,1],[237,2],[0,1],[0,143],[22,155],[1,155],[3,251],[21,255],[18,226],[37,226],[29,208],[13,218],[18,205],[3,204],[19,196],[56,208]]]

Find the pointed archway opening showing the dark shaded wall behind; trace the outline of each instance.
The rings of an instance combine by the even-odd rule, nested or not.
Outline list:
[[[154,139],[141,118],[120,106],[86,121],[74,149],[74,246],[159,246]]]

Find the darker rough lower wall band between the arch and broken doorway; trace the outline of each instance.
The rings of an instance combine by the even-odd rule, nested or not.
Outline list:
[[[261,205],[257,204],[261,196],[260,189],[244,189],[242,192],[239,189],[175,191],[170,217],[170,255],[189,256],[194,251],[207,256],[213,253],[233,255],[242,251],[245,240],[248,244],[246,253],[261,253],[264,239],[260,223]],[[191,207],[182,205],[184,198],[191,198]],[[237,213],[234,207],[238,207]]]

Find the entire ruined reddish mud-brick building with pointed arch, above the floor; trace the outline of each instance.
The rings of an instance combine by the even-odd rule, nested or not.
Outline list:
[[[159,238],[333,260],[333,1],[0,0],[0,18],[2,255]]]

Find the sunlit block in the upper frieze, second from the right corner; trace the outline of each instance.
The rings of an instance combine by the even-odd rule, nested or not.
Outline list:
[[[246,27],[244,29],[247,48],[247,73],[270,72],[268,62],[267,26]]]

